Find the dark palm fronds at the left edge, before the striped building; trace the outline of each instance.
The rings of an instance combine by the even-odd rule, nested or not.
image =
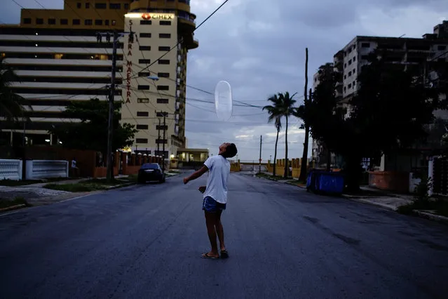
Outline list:
[[[3,58],[0,58],[0,117],[4,117],[6,121],[18,121],[25,117],[25,107],[32,109],[27,101],[14,93],[11,88],[13,82],[19,81],[14,70],[5,64]]]

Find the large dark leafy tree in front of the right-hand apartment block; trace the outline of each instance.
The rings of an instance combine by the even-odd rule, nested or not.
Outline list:
[[[387,53],[372,53],[358,77],[358,93],[348,102],[351,114],[343,117],[334,101],[334,72],[320,70],[311,124],[313,138],[325,142],[344,157],[348,190],[358,191],[362,158],[400,150],[426,138],[425,126],[435,109],[445,109],[437,90],[426,88],[423,78],[387,63]]]

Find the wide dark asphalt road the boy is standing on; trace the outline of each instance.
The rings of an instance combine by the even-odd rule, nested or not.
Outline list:
[[[448,226],[232,174],[230,258],[200,178],[0,216],[1,298],[447,298]]]

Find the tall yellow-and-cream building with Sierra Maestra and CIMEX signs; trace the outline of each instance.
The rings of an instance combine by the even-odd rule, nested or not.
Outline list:
[[[62,10],[23,8],[19,25],[0,25],[0,55],[18,74],[11,87],[32,106],[32,122],[3,122],[2,137],[22,144],[25,129],[28,143],[57,144],[48,129],[79,121],[62,117],[70,101],[107,100],[113,39],[106,34],[115,30],[114,100],[123,101],[122,121],[137,127],[133,150],[156,154],[164,143],[165,157],[175,154],[186,142],[186,55],[198,47],[195,18],[189,0],[65,0]]]

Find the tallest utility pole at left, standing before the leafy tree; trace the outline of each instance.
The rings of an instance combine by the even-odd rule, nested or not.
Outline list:
[[[109,37],[109,33],[107,34]],[[100,39],[101,40],[101,39]],[[111,86],[109,90],[109,122],[107,124],[107,182],[114,179],[114,166],[112,165],[112,131],[114,120],[114,95],[115,95],[115,70],[116,70],[116,48],[118,45],[118,33],[114,30],[114,48],[112,50],[112,73]]]

